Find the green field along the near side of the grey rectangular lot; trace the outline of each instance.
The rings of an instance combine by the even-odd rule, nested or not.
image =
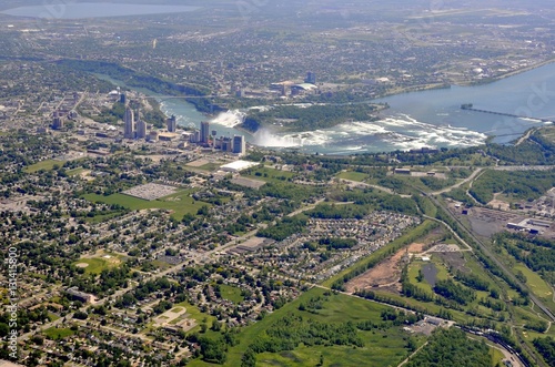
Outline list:
[[[202,206],[211,206],[211,204],[193,200],[190,194],[191,191],[182,191],[153,201],[147,201],[124,194],[112,194],[110,196],[85,194],[83,198],[93,203],[119,204],[132,211],[147,208],[168,210],[172,211],[172,217],[181,220],[186,213],[196,214],[196,211]]]

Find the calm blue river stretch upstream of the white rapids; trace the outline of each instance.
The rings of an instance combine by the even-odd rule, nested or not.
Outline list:
[[[542,123],[463,111],[461,104],[473,103],[475,109],[555,120],[555,63],[490,84],[455,85],[448,90],[398,94],[380,101],[390,103],[390,113],[406,113],[434,125],[464,128],[496,135],[497,142],[508,142]]]

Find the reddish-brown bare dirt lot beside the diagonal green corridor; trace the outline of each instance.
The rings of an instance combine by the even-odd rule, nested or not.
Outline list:
[[[346,290],[354,293],[355,289],[367,289],[373,287],[387,288],[389,290],[401,290],[402,259],[408,249],[408,254],[418,254],[424,251],[425,244],[413,243],[403,249],[400,249],[395,255],[377,264],[366,273],[355,277],[346,284]]]

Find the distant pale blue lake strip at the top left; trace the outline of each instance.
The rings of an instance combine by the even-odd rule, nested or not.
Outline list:
[[[64,3],[63,1],[46,1],[43,6],[20,7],[0,13],[13,17],[40,19],[85,19],[147,16],[194,11],[199,7],[186,6],[148,6],[125,3]]]

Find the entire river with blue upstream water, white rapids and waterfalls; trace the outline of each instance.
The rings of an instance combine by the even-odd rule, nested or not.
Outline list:
[[[211,122],[219,135],[245,134],[246,140],[256,145],[295,147],[306,153],[353,154],[422,146],[475,146],[487,136],[507,143],[527,129],[545,123],[465,111],[461,110],[461,104],[473,103],[476,109],[555,120],[555,63],[490,84],[404,93],[376,102],[387,102],[391,106],[382,112],[380,121],[350,122],[303,133],[280,134],[264,129],[254,135],[245,134],[233,128],[244,115],[240,111],[222,113]],[[165,114],[174,114],[180,125],[199,126],[206,119],[184,100],[161,98],[161,106]]]

